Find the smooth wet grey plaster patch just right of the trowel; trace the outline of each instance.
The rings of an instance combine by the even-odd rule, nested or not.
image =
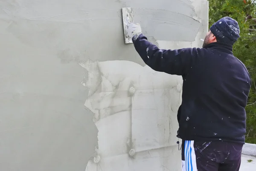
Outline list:
[[[162,41],[194,41],[201,23],[190,16],[161,9],[134,9],[134,22],[145,35]]]

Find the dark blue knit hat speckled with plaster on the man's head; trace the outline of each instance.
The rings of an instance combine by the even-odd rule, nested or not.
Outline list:
[[[211,32],[217,40],[234,44],[240,38],[240,29],[236,20],[230,17],[223,17],[210,27]]]

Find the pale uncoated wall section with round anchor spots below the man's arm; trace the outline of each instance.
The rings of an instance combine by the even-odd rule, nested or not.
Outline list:
[[[182,79],[130,61],[81,63],[99,130],[86,171],[174,170]],[[176,167],[175,167],[176,168]]]

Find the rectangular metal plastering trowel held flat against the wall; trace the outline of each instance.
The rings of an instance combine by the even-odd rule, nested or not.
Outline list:
[[[125,36],[125,44],[133,43],[132,42],[132,35],[129,35],[127,32],[129,23],[133,23],[134,20],[134,10],[130,7],[122,8],[122,19],[123,19],[123,26],[124,26],[124,36]]]

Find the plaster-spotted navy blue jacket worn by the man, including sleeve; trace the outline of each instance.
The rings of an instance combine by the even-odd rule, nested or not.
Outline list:
[[[150,43],[143,34],[133,41],[140,57],[153,70],[183,78],[177,137],[244,143],[244,108],[251,78],[233,55],[232,45],[216,42],[205,48],[165,50]]]

